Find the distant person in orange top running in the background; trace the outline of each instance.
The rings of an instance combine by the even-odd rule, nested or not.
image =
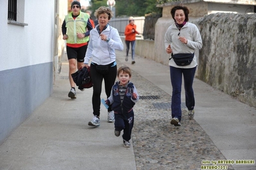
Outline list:
[[[129,24],[125,27],[124,35],[125,35],[125,43],[126,43],[126,57],[125,61],[128,61],[128,53],[130,50],[130,43],[132,46],[132,64],[135,63],[134,54],[135,54],[135,40],[136,34],[140,34],[136,31],[136,25],[134,24],[134,18],[129,18]]]

